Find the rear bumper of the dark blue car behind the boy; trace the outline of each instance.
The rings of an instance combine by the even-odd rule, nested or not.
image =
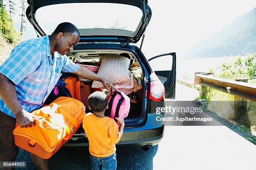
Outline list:
[[[164,126],[150,130],[124,132],[116,148],[120,150],[141,148],[144,145],[157,145],[164,136]],[[84,134],[75,134],[64,146],[88,147]]]

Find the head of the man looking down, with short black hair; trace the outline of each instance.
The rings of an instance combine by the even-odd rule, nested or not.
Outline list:
[[[80,37],[79,30],[72,23],[61,23],[51,35],[54,37],[54,50],[64,55],[73,50]]]

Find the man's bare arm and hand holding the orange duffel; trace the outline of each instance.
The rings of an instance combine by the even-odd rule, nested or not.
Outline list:
[[[18,101],[17,92],[13,82],[2,73],[0,73],[0,97],[10,110],[13,111],[20,127],[31,127],[32,125],[35,125],[33,118],[40,118],[23,109]]]

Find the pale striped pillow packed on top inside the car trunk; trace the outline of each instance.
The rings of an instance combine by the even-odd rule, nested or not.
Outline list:
[[[100,58],[101,65],[97,75],[107,79],[112,84],[130,80],[131,72],[128,70],[130,60],[120,55],[106,55]],[[92,88],[104,87],[102,82],[93,81]]]

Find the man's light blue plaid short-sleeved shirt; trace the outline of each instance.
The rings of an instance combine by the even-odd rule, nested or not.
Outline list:
[[[63,72],[76,72],[79,66],[66,55],[51,57],[49,36],[26,40],[13,48],[0,72],[15,85],[18,101],[27,112],[39,109]],[[15,117],[0,98],[0,110]]]

